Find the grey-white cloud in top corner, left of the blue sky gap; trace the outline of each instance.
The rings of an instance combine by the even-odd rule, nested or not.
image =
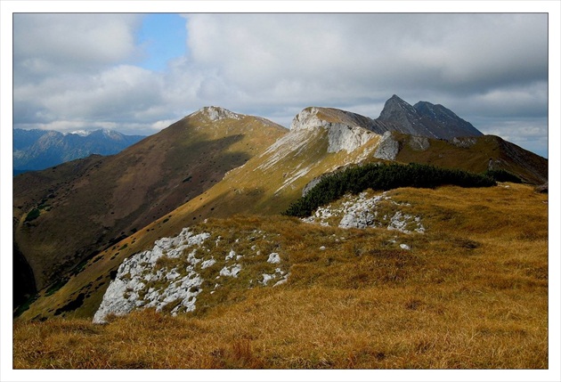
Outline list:
[[[140,20],[125,13],[16,13],[14,71],[60,75],[130,60],[142,53],[134,42]]]

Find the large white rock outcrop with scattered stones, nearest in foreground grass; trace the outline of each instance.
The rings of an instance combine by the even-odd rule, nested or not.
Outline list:
[[[264,240],[269,238],[266,232],[253,233],[263,234]],[[209,256],[209,252],[212,252],[212,249],[216,248],[222,240],[218,237],[212,241],[208,240],[207,243],[210,236],[208,232],[194,234],[186,228],[179,235],[157,240],[153,248],[126,258],[118,267],[115,280],[106,290],[93,322],[105,322],[110,313],[124,315],[146,307],[155,307],[157,311],[167,307],[172,315],[195,310],[204,281],[199,272],[217,263],[217,257]],[[255,239],[256,236],[238,238],[234,244],[241,244],[243,241],[255,243]],[[239,263],[242,257],[261,256],[256,244],[251,246],[251,251],[252,253],[243,255],[237,254],[233,248],[226,253],[223,252],[218,260],[225,264],[222,269],[219,266],[216,266],[215,270],[211,268],[210,280],[237,279],[240,272],[243,272],[242,265]],[[280,260],[280,254],[273,252],[266,262],[280,264]],[[264,259],[263,262],[265,263]],[[275,285],[277,285],[286,282],[287,279],[288,275],[280,268],[276,268],[274,272],[264,276],[262,283],[266,285],[270,280],[276,280]],[[215,288],[218,286],[216,284]],[[253,286],[250,281],[248,287]]]

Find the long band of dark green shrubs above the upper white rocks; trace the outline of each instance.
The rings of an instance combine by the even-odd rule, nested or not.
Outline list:
[[[337,200],[347,192],[357,194],[368,189],[387,191],[398,187],[434,188],[446,184],[460,187],[490,187],[496,185],[496,182],[485,175],[416,163],[409,165],[375,163],[348,167],[341,172],[323,177],[320,183],[304,197],[293,202],[284,215],[298,217],[312,215],[317,207]]]

